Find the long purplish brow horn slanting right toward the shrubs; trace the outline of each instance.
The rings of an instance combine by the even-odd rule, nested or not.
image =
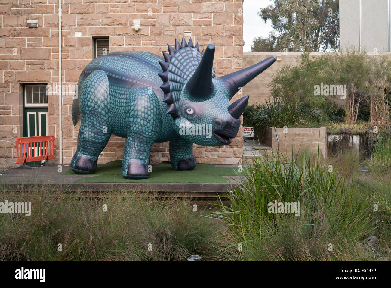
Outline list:
[[[248,82],[253,80],[262,72],[264,72],[274,63],[274,61],[276,61],[276,58],[271,56],[253,66],[247,67],[246,69],[242,69],[240,71],[219,77],[219,79],[224,81],[230,91],[230,100],[233,95],[235,95],[236,92],[239,91],[241,87],[246,85]]]

